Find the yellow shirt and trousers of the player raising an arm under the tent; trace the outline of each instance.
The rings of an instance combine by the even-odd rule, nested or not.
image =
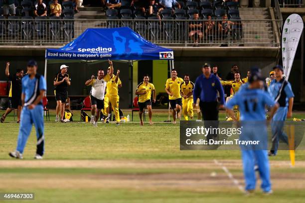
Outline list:
[[[115,75],[106,75],[103,79],[107,82],[106,85],[106,95],[104,98],[104,108],[105,110],[108,108],[109,103],[111,103],[111,106],[113,108],[114,114],[116,116],[116,121],[120,122],[120,113],[119,113],[119,88],[118,86],[122,84],[121,80],[119,79],[116,83],[116,77]]]

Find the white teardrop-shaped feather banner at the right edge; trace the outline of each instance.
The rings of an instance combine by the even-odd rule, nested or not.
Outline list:
[[[288,80],[292,69],[303,27],[302,17],[295,13],[288,16],[284,23],[282,31],[282,60],[286,80]]]

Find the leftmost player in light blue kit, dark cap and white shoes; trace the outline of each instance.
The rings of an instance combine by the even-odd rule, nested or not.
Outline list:
[[[16,150],[9,152],[9,156],[22,159],[22,153],[34,123],[37,136],[35,159],[42,159],[44,153],[44,126],[42,98],[46,91],[46,82],[43,76],[37,74],[37,62],[30,60],[27,63],[27,74],[22,78],[22,111],[20,129]]]

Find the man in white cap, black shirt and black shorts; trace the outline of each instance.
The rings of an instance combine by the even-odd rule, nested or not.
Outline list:
[[[58,73],[55,76],[54,79],[54,86],[55,86],[55,99],[57,102],[56,105],[56,118],[55,121],[58,122],[64,122],[63,116],[64,116],[64,110],[65,110],[65,104],[68,98],[68,86],[71,85],[71,78],[67,74],[67,68],[69,66],[61,65],[60,66],[60,73]],[[58,117],[60,110],[60,120]]]

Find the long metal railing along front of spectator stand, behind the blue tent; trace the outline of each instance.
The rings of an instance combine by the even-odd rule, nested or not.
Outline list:
[[[0,45],[62,45],[87,28],[128,26],[152,43],[167,46],[278,46],[273,25],[278,21],[0,19]],[[196,27],[192,26],[195,24]]]

